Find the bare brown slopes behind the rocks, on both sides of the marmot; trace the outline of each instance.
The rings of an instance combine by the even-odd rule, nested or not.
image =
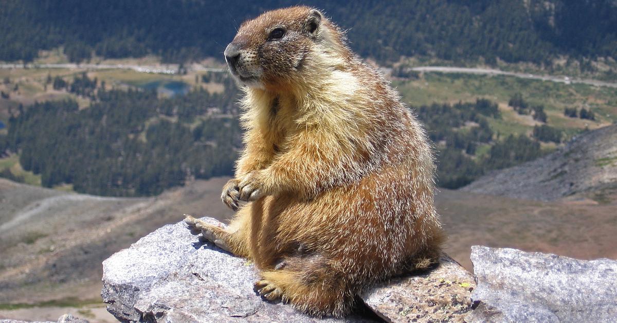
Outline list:
[[[47,304],[41,315],[49,315],[56,304],[104,319],[101,262],[184,213],[230,219],[220,201],[226,180],[197,180],[153,198],[99,198],[0,179],[0,316],[23,319],[24,304]],[[469,270],[471,245],[617,259],[617,199],[542,202],[442,189],[436,206],[445,252]]]

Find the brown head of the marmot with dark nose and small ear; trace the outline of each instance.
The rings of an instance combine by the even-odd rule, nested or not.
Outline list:
[[[241,85],[276,88],[307,77],[307,65],[319,61],[314,56],[320,53],[331,56],[332,64],[352,56],[339,28],[318,10],[298,6],[242,23],[225,49],[225,61]]]

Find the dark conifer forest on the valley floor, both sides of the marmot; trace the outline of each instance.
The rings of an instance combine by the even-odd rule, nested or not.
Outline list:
[[[226,74],[207,73],[202,81],[222,84],[225,91],[197,88],[164,98],[154,90],[106,90],[85,73],[68,81],[50,79],[59,90],[87,98],[89,106],[80,109],[67,99],[12,110],[0,152],[19,153],[21,167],[40,174],[44,187],[72,184],[75,191],[95,195],[157,195],[192,178],[233,175],[242,146],[234,104],[238,88]],[[487,170],[544,153],[543,136],[492,130],[489,120],[502,116],[487,99],[410,109],[434,142],[441,187],[462,187]],[[10,171],[0,177],[18,179]]]

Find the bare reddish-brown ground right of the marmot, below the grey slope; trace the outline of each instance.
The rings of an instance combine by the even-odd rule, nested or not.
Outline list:
[[[615,199],[549,203],[442,190],[436,200],[445,251],[469,270],[472,245],[617,259]]]

